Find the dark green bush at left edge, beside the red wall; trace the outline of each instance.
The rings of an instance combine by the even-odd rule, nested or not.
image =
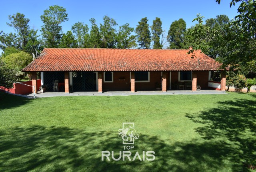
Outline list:
[[[0,87],[12,88],[15,82],[18,82],[16,71],[0,61]]]

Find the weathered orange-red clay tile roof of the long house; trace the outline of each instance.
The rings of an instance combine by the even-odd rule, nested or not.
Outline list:
[[[196,51],[152,49],[44,48],[24,72],[218,70],[220,63]]]

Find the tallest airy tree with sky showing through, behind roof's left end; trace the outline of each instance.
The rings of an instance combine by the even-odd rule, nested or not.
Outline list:
[[[44,10],[44,14],[40,18],[44,23],[41,26],[41,32],[46,47],[58,48],[62,36],[62,26],[60,24],[67,21],[67,17],[66,9],[61,6],[54,5]]]

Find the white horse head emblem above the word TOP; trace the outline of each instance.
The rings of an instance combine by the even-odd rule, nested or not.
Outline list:
[[[129,126],[129,128],[119,129],[118,130],[118,136],[122,137],[123,143],[128,142],[127,144],[134,144],[134,139],[139,138],[139,134],[134,129],[134,126]]]

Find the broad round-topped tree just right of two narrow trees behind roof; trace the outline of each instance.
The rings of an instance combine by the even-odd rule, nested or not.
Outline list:
[[[167,40],[170,43],[170,49],[185,48],[184,37],[186,32],[186,22],[180,18],[172,22],[168,31]]]

